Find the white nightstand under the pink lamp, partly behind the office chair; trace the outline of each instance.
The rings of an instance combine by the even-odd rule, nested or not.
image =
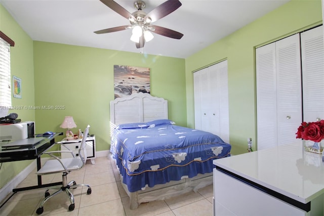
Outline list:
[[[66,140],[62,139],[65,146],[67,146],[75,156],[79,155],[79,146],[82,139],[72,139]],[[64,147],[63,147],[64,148]],[[88,136],[86,141],[86,150],[87,150],[87,160],[91,160],[92,164],[95,164],[96,158],[96,137]],[[72,155],[70,153],[62,153],[61,158],[70,158]]]

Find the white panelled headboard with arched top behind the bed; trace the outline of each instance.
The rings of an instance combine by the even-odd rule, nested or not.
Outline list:
[[[148,93],[135,93],[110,101],[110,123],[114,125],[168,119],[168,101]]]

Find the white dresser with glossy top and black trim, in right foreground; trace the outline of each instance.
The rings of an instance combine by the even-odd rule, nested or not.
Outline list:
[[[321,155],[300,144],[213,163],[214,215],[324,215]]]

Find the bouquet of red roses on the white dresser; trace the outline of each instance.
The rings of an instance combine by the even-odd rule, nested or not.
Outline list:
[[[324,120],[318,122],[303,122],[298,127],[296,138],[320,142],[324,139]]]

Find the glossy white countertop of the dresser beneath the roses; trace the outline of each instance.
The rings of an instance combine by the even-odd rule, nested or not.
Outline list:
[[[321,155],[304,152],[300,143],[221,158],[213,163],[302,203],[324,194]]]

